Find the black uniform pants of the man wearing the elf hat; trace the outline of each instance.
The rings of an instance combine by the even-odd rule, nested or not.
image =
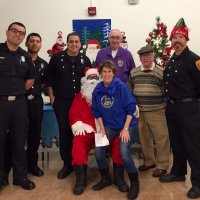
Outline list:
[[[174,157],[171,173],[187,174],[188,161],[192,185],[200,186],[200,102],[167,102],[166,119]]]

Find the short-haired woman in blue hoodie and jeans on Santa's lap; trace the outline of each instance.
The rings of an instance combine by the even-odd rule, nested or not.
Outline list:
[[[98,71],[103,81],[93,92],[92,111],[99,123],[99,132],[102,136],[106,134],[110,142],[115,136],[120,137],[120,154],[131,183],[128,199],[135,199],[139,193],[139,180],[130,147],[137,126],[137,119],[134,116],[136,100],[128,86],[114,77],[116,69],[113,62],[102,62]],[[110,185],[106,146],[96,147],[96,160],[102,179],[93,186],[93,189],[99,190]]]

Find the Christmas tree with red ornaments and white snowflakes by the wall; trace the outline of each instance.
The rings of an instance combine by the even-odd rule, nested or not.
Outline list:
[[[154,50],[156,64],[165,67],[169,61],[172,48],[168,44],[167,26],[160,22],[160,17],[156,18],[156,28],[149,33],[146,42]]]

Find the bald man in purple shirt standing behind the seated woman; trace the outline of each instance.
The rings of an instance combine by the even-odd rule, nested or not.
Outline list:
[[[108,41],[110,46],[101,49],[96,57],[95,66],[99,67],[101,62],[110,60],[114,62],[117,73],[116,77],[127,83],[130,71],[135,67],[133,56],[127,49],[120,46],[122,41],[121,31],[111,30]]]

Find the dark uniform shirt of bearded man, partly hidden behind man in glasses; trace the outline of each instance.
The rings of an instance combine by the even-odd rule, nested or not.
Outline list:
[[[42,94],[42,84],[45,84],[45,68],[47,67],[47,62],[40,58],[39,56],[34,61],[36,77],[34,85],[27,91],[28,95],[41,95]]]

